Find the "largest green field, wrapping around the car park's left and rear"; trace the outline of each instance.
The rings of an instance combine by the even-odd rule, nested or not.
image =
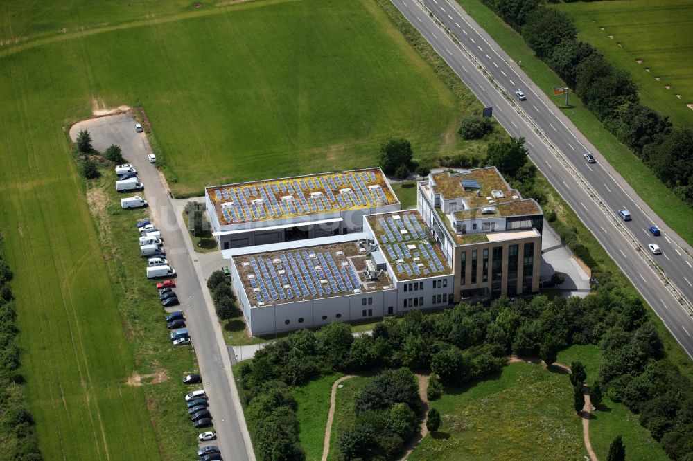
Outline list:
[[[160,307],[131,284],[141,268],[100,247],[122,216],[89,214],[73,120],[145,107],[178,192],[372,165],[388,136],[422,155],[456,143],[457,96],[369,1],[3,2],[0,31],[17,38],[0,45],[0,228],[46,459],[189,459],[193,448],[177,379],[193,357],[164,349]],[[169,379],[130,386],[135,372]]]

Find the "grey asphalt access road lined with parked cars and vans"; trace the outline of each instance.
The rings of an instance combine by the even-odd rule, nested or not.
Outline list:
[[[188,249],[192,248],[190,236],[183,230],[182,218],[170,198],[163,176],[147,159],[151,150],[146,135],[136,133],[134,123],[130,114],[85,120],[73,125],[70,136],[75,139],[81,129],[87,129],[94,149],[103,152],[109,145],[117,144],[123,151],[123,157],[137,169],[137,176],[145,186],[143,195],[150,204],[151,219],[161,230],[166,257],[178,273],[176,291],[182,301],[180,308],[186,314],[187,327],[204,380],[204,390],[209,396],[218,440],[204,444],[219,446],[225,459],[252,461],[255,459],[254,453],[231,374],[231,358],[218,327],[202,271],[199,270],[198,253]],[[133,194],[125,196],[130,195]],[[169,310],[177,309],[179,308]],[[161,328],[166,328],[163,322]],[[184,404],[183,397],[182,394],[180,405]],[[189,422],[182,420],[181,424]],[[191,444],[195,442],[190,441]]]

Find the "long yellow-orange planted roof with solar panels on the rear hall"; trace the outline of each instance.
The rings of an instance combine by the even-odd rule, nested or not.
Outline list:
[[[399,204],[380,168],[206,188],[222,226]]]

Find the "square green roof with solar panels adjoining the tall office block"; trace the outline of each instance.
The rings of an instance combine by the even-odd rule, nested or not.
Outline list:
[[[370,215],[366,219],[398,280],[451,273],[439,248],[428,242],[428,226],[418,211]]]

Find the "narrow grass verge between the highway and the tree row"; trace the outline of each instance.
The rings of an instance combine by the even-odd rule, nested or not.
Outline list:
[[[480,26],[486,30],[503,50],[516,62],[522,61],[522,68],[529,78],[546,93],[552,94],[554,87],[565,84],[535,55],[534,51],[510,26],[498,18],[479,0],[457,0],[459,5]],[[600,2],[611,3],[611,2]],[[553,96],[551,96],[553,98]],[[557,105],[563,100],[556,100]],[[648,104],[647,100],[643,100]],[[638,195],[688,244],[693,245],[693,208],[678,199],[673,192],[651,172],[647,166],[622,145],[611,133],[606,131],[597,118],[588,111],[577,96],[570,95],[569,108],[560,107],[565,116],[604,154],[604,158],[638,192]],[[657,223],[654,223],[657,224]]]

